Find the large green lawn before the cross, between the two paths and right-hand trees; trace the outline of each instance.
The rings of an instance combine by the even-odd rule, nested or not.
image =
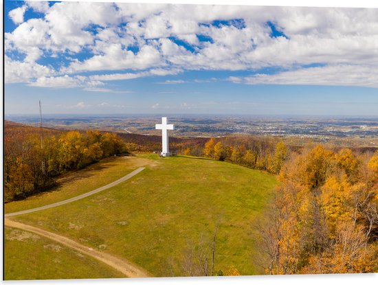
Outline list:
[[[125,258],[155,276],[186,275],[188,249],[210,243],[219,223],[216,271],[235,266],[242,275],[263,273],[254,225],[273,196],[275,176],[194,157],[138,159],[148,161],[146,169],[124,183],[12,219]],[[78,180],[96,185],[101,172]]]

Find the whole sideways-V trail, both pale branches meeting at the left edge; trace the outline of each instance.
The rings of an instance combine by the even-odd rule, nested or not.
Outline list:
[[[113,187],[119,183],[122,183],[126,181],[127,179],[131,179],[131,177],[135,176],[139,172],[144,170],[144,167],[137,168],[133,172],[130,172],[129,174],[123,176],[122,178],[113,181],[112,183],[109,183],[107,185],[104,185],[102,187],[97,188],[96,190],[89,191],[85,194],[81,194],[78,196],[75,196],[73,198],[69,198],[67,200],[63,200],[57,203],[45,205],[42,207],[36,207],[33,209],[27,209],[24,211],[19,212],[13,212],[5,214],[4,218],[4,226],[5,227],[13,227],[16,229],[22,229],[24,231],[30,231],[32,233],[36,233],[40,236],[44,236],[45,238],[49,238],[50,240],[54,240],[55,242],[59,242],[60,244],[65,245],[66,247],[71,247],[72,249],[75,249],[76,251],[80,251],[81,253],[84,253],[86,255],[91,256],[92,258],[96,258],[96,260],[100,260],[101,262],[104,262],[105,264],[108,264],[109,266],[113,267],[113,269],[120,271],[120,273],[123,273],[126,277],[150,277],[151,275],[148,274],[143,269],[140,269],[135,264],[129,262],[128,260],[122,260],[120,258],[115,258],[113,255],[110,255],[109,253],[104,253],[102,251],[97,251],[96,249],[92,249],[91,247],[86,247],[85,245],[82,245],[74,240],[71,240],[69,238],[66,238],[65,236],[60,236],[56,233],[52,233],[49,231],[45,231],[44,229],[39,229],[38,227],[33,227],[30,225],[25,225],[23,223],[16,222],[14,220],[10,220],[8,217],[11,216],[18,216],[21,214],[28,214],[32,212],[41,211],[43,209],[49,209],[52,207],[64,205],[67,203],[71,203],[73,201],[80,200],[82,198],[91,196],[93,194],[96,194],[98,192],[101,192],[103,190],[106,190],[110,187]]]

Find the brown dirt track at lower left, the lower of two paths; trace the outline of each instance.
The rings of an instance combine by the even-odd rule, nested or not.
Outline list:
[[[120,258],[115,258],[114,256],[108,253],[97,251],[96,249],[92,249],[91,247],[86,247],[85,245],[79,244],[74,240],[70,240],[69,238],[65,238],[64,236],[59,236],[56,233],[51,233],[43,229],[38,229],[37,227],[32,227],[30,225],[15,222],[14,220],[10,220],[9,218],[5,218],[4,225],[5,227],[14,227],[16,229],[30,231],[40,236],[44,236],[45,238],[49,238],[50,240],[54,240],[55,242],[59,242],[60,244],[65,245],[66,247],[71,247],[76,251],[80,251],[80,253],[84,253],[86,255],[91,256],[92,258],[96,258],[96,260],[100,260],[101,262],[108,264],[109,266],[113,267],[113,269],[123,273],[126,277],[151,276],[146,271],[138,268],[136,265],[132,264],[127,260],[121,260]]]

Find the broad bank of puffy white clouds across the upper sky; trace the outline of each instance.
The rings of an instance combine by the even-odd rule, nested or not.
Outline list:
[[[230,77],[235,83],[377,87],[378,9],[50,5],[31,1],[8,14],[20,25],[5,33],[5,54],[10,58],[5,65],[6,83],[107,91],[98,87],[102,81],[226,70],[255,74]],[[27,8],[43,16],[24,21]],[[14,58],[14,53],[22,54],[23,60]],[[63,64],[41,63],[52,56]],[[18,71],[20,67],[23,70]],[[285,71],[262,72],[272,68]],[[88,72],[91,75],[85,79],[78,76]]]

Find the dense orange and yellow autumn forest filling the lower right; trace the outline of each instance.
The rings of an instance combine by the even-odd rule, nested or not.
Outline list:
[[[314,146],[291,154],[267,223],[269,274],[378,271],[378,150]]]

